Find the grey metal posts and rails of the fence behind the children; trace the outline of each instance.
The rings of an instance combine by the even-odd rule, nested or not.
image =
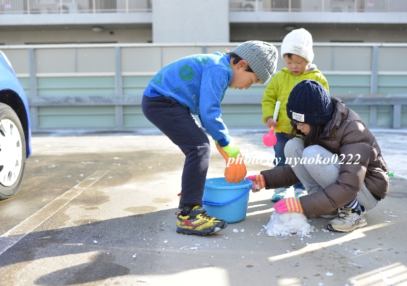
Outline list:
[[[38,108],[41,107],[64,107],[64,106],[114,106],[115,107],[115,117],[117,122],[117,128],[112,131],[121,131],[125,130],[123,125],[123,109],[125,106],[139,106],[141,104],[141,94],[131,94],[124,95],[123,79],[126,76],[148,76],[152,77],[160,69],[160,66],[163,67],[166,65],[166,61],[172,61],[174,59],[166,58],[165,52],[168,49],[194,49],[193,51],[198,51],[201,53],[207,53],[213,50],[221,50],[223,47],[234,47],[239,43],[215,43],[215,44],[67,44],[67,45],[18,45],[18,46],[3,46],[2,50],[28,50],[28,60],[30,63],[29,73],[27,74],[18,74],[19,78],[27,78],[30,80],[30,96],[28,97],[28,102],[31,107],[32,112],[32,121],[33,121],[33,131],[42,132],[43,130],[38,129]],[[279,47],[281,43],[273,43],[275,46]],[[337,70],[322,70],[325,75],[345,75],[345,76],[368,76],[370,77],[370,93],[368,94],[353,94],[352,96],[348,94],[335,94],[336,97],[341,98],[347,105],[367,105],[369,107],[369,116],[370,116],[370,125],[375,126],[377,121],[377,106],[392,106],[391,108],[391,117],[393,128],[401,127],[401,118],[402,118],[402,106],[407,106],[407,92],[402,92],[403,94],[377,94],[378,86],[378,77],[380,75],[397,75],[397,76],[407,76],[407,70],[403,71],[379,71],[378,70],[378,61],[379,61],[379,48],[407,48],[407,44],[393,44],[393,43],[314,43],[314,47],[323,47],[331,48],[330,52],[332,56],[335,53],[335,49],[338,48],[355,48],[360,47],[364,51],[370,51],[371,58],[368,59],[371,61],[371,70],[362,70],[362,71],[337,71]],[[38,73],[36,71],[36,51],[47,51],[51,50],[67,50],[67,49],[87,49],[91,52],[92,48],[101,49],[107,48],[112,50],[111,56],[114,56],[112,64],[112,71],[104,72],[71,72],[71,73]],[[130,71],[123,70],[121,66],[122,53],[127,48],[150,48],[155,49],[155,53],[149,55],[149,58],[155,59],[157,62],[157,71]],[[367,50],[366,50],[367,48]],[[149,50],[150,50],[149,49]],[[370,50],[371,49],[371,50]],[[114,53],[113,53],[114,51]],[[145,50],[144,50],[145,51]],[[189,51],[189,50],[188,50]],[[49,52],[46,52],[49,54]],[[76,52],[75,52],[76,56]],[[178,56],[178,55],[172,55]],[[150,59],[147,59],[150,62]],[[76,60],[76,59],[75,59]],[[367,59],[366,59],[367,60]],[[75,63],[76,65],[76,63]],[[334,62],[332,62],[333,68]],[[359,66],[359,63],[358,63]],[[146,68],[148,68],[146,66]],[[80,77],[111,77],[114,78],[114,94],[112,96],[38,96],[38,79],[41,78],[56,78],[56,77],[65,77],[65,78],[80,78]],[[251,91],[250,89],[248,91]],[[407,89],[406,89],[407,90]],[[260,94],[232,94],[231,96],[225,97],[225,100],[222,102],[224,105],[259,105],[261,102]]]

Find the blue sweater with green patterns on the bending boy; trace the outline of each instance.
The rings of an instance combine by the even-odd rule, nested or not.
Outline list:
[[[232,80],[229,62],[230,56],[219,52],[178,59],[162,68],[143,94],[176,100],[199,116],[202,126],[220,146],[226,146],[230,137],[220,118],[220,103]]]

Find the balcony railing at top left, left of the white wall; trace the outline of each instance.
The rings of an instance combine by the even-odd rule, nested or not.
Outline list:
[[[2,0],[0,13],[149,12],[152,0]]]

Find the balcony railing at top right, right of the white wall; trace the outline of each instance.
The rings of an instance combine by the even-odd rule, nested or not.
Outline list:
[[[229,0],[229,11],[407,12],[405,0]]]

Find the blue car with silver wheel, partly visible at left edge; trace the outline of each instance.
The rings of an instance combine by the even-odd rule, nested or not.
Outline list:
[[[30,155],[27,98],[8,58],[0,51],[0,200],[17,193]]]

